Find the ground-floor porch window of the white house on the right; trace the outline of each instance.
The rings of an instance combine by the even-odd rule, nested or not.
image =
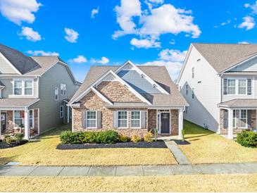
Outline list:
[[[233,110],[233,128],[247,128],[247,110]]]

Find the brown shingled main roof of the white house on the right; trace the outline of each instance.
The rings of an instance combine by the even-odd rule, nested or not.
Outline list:
[[[192,44],[217,73],[257,55],[257,44]]]

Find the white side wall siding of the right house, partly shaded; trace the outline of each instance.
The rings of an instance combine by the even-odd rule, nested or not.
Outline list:
[[[194,79],[192,68],[194,68]],[[186,85],[188,85],[188,94],[186,94]],[[208,125],[209,130],[218,131],[217,105],[220,103],[220,77],[194,46],[178,86],[181,87],[180,92],[184,99],[189,103],[184,118],[203,127]],[[194,88],[194,99],[192,99],[192,88]]]

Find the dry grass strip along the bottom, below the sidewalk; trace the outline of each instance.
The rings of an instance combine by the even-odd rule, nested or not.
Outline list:
[[[0,177],[0,192],[256,192],[257,175]]]

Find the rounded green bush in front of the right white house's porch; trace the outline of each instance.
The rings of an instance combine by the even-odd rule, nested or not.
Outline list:
[[[237,142],[244,147],[257,147],[257,132],[243,130],[237,134]]]

